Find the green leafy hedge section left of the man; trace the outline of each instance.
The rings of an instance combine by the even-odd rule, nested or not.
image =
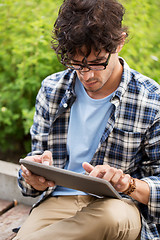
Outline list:
[[[62,70],[50,44],[61,3],[6,0],[0,4],[1,151],[29,150],[29,128],[41,81]]]

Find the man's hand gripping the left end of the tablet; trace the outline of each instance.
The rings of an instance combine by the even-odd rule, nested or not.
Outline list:
[[[38,162],[45,165],[52,165],[52,153],[50,151],[45,151],[42,155],[28,156],[25,158],[28,161]],[[26,167],[21,165],[22,176],[24,177],[26,183],[31,185],[38,191],[44,191],[47,187],[54,187],[54,182],[47,181],[44,177],[32,174]]]

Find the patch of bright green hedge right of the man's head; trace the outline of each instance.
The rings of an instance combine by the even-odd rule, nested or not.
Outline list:
[[[128,64],[160,83],[159,0],[123,0],[129,42],[122,50]]]

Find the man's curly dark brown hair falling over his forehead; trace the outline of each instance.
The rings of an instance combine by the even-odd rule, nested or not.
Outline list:
[[[82,47],[85,57],[92,49],[114,53],[124,39],[122,33],[127,33],[122,27],[124,12],[116,0],[65,0],[54,24],[52,48],[63,64]]]

